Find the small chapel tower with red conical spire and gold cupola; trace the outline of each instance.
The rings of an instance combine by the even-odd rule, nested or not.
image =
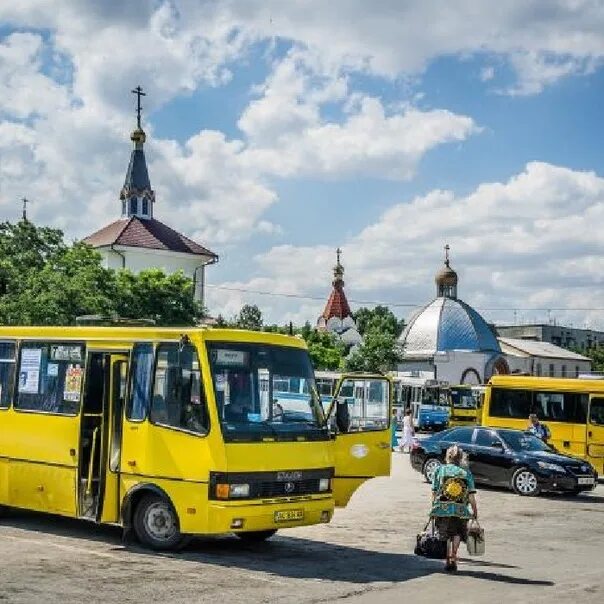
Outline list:
[[[325,310],[317,320],[317,329],[334,334],[349,348],[356,349],[363,338],[357,330],[350,305],[344,293],[344,267],[340,263],[342,250],[336,250],[337,262],[333,269],[332,290],[325,305]]]

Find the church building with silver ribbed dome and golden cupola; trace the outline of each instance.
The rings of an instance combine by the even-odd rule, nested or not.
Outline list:
[[[436,274],[436,298],[409,319],[400,337],[399,373],[450,384],[481,384],[509,373],[495,334],[471,306],[457,298],[457,273],[449,262]]]

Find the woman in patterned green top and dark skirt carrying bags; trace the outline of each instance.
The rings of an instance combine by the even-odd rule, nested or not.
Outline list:
[[[436,528],[447,539],[445,570],[457,570],[457,550],[468,536],[468,520],[478,518],[476,488],[467,466],[466,455],[457,445],[447,449],[445,464],[432,482],[432,512]],[[471,508],[471,512],[470,512]]]

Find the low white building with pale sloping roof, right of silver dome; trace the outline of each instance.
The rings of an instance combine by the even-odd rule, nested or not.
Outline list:
[[[498,340],[512,373],[575,378],[591,372],[591,359],[549,342],[502,337]]]

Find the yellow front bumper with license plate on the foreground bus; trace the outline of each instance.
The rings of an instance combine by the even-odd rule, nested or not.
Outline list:
[[[208,526],[211,533],[266,531],[329,522],[333,517],[334,499],[254,502],[211,501]]]

